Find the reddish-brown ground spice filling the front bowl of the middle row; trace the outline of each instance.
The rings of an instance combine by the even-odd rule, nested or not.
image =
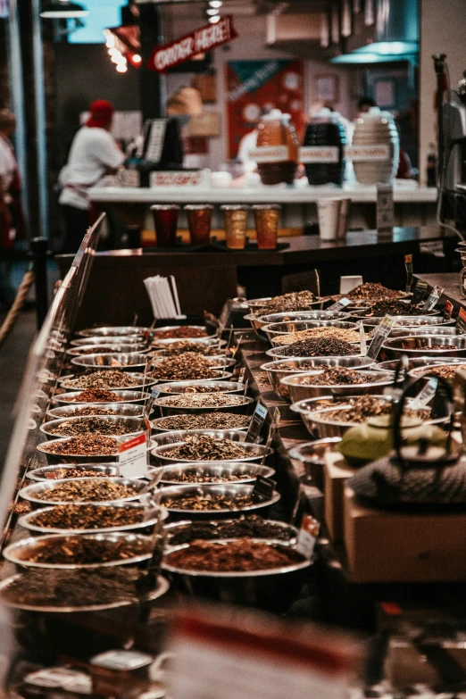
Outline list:
[[[241,538],[228,544],[195,540],[187,548],[169,553],[165,563],[185,570],[212,572],[246,572],[270,570],[304,562],[295,549],[263,544]]]

